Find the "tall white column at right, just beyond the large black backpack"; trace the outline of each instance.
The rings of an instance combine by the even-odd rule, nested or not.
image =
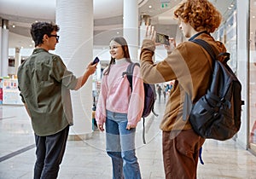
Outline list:
[[[241,147],[247,149],[247,135],[248,135],[248,118],[247,111],[248,99],[248,49],[249,49],[249,0],[236,1],[237,7],[237,77],[241,82],[241,99],[245,101],[245,105],[241,106],[241,128],[237,134],[236,141]]]

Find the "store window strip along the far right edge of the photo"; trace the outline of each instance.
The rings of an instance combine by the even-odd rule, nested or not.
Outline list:
[[[250,0],[249,147],[256,153],[256,0]]]

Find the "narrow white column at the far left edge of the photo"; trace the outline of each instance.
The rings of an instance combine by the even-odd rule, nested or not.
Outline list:
[[[2,20],[2,38],[1,38],[1,74],[0,76],[8,76],[9,68],[9,20]]]

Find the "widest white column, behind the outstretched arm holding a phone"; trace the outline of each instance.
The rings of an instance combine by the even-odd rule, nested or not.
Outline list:
[[[67,69],[79,77],[92,60],[93,0],[57,0],[56,24],[60,26],[56,54],[61,56]],[[80,90],[72,91],[71,96],[74,125],[70,130],[70,138],[90,136],[93,105],[91,77]]]

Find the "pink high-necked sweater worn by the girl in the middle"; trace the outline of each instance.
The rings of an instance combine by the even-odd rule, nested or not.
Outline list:
[[[106,110],[114,113],[127,113],[128,124],[137,125],[143,114],[144,89],[140,69],[135,66],[132,78],[132,93],[126,75],[130,63],[125,59],[115,61],[108,75],[102,75],[101,93],[96,107],[96,122],[104,124]]]

